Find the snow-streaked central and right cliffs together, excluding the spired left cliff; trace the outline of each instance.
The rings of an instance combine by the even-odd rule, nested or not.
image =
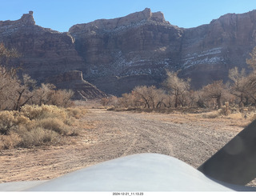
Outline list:
[[[182,70],[180,75],[192,78],[192,86],[199,88],[214,80],[226,81],[234,66],[246,67],[255,46],[255,14],[255,10],[226,14],[209,25],[183,29],[166,22],[162,13],[146,9],[123,18],[75,25],[70,34],[85,59],[85,78],[100,89],[107,88],[98,79],[109,77],[114,88],[120,78],[136,80],[136,75],[138,84],[158,86],[166,69]],[[141,74],[152,80],[142,82]],[[119,77],[116,82],[113,76]]]

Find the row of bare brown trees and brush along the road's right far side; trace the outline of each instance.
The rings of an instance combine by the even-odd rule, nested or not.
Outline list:
[[[214,81],[199,90],[190,87],[190,78],[179,78],[178,71],[166,70],[167,77],[161,88],[137,86],[129,94],[122,94],[120,98],[105,98],[103,105],[112,105],[115,110],[126,108],[161,112],[198,109],[216,111],[215,117],[241,113],[246,118],[248,115],[243,114],[246,111],[250,116],[254,116],[252,113],[256,106],[256,47],[246,62],[250,73],[234,67],[229,71],[230,82]]]

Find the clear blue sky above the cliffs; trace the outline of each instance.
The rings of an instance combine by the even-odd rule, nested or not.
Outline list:
[[[0,21],[17,20],[34,11],[37,25],[68,31],[78,23],[110,19],[142,11],[162,11],[172,25],[190,28],[223,14],[256,10],[256,0],[0,0]]]

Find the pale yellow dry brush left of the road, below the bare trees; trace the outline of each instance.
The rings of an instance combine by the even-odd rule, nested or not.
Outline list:
[[[33,147],[62,142],[62,136],[78,136],[77,120],[84,108],[29,106],[18,111],[0,111],[0,150],[17,146]]]

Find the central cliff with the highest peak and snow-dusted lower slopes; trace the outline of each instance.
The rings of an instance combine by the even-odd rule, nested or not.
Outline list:
[[[132,84],[129,82],[119,88],[117,94],[121,95],[125,89],[131,90],[140,84],[158,85],[166,68],[178,66],[183,29],[166,22],[161,12],[151,13],[150,9],[145,9],[123,18],[75,25],[70,28],[70,34],[86,62],[82,70],[86,80],[102,90],[113,89],[107,90],[112,93],[120,81],[134,78]],[[141,75],[153,80],[141,81],[145,78]],[[106,82],[102,85],[98,82],[108,78],[111,87],[107,87]]]

